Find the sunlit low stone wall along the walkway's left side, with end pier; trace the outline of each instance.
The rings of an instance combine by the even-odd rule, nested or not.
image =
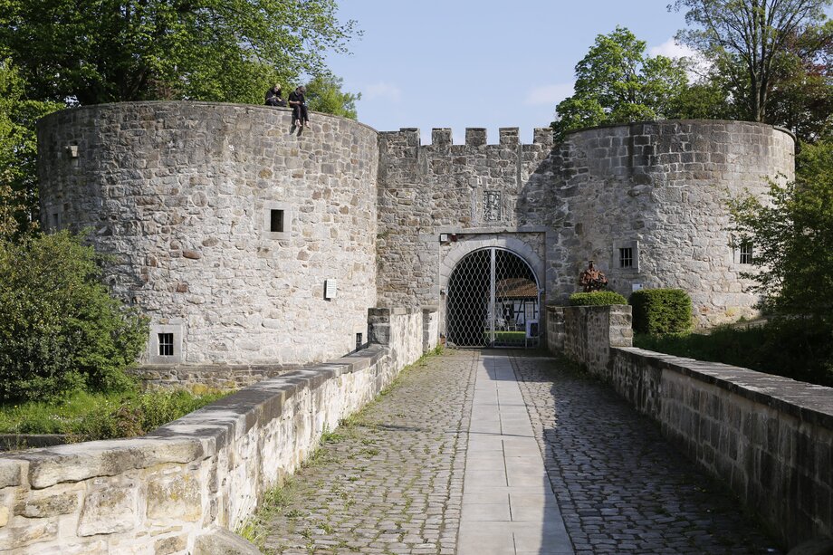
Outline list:
[[[291,370],[153,433],[0,457],[0,552],[190,553],[422,355],[422,311],[371,314],[388,337]]]

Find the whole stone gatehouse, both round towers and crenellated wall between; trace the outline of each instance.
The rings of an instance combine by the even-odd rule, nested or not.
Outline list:
[[[613,289],[679,287],[698,321],[750,315],[726,200],[791,179],[794,139],[768,125],[661,121],[552,144],[518,129],[377,132],[288,110],[139,102],[39,125],[46,229],[89,229],[114,292],[151,319],[144,362],[302,364],[354,349],[375,306],[445,306],[467,254],[500,247],[541,301],[589,259]],[[629,258],[623,258],[627,254]],[[441,321],[441,331],[443,323]],[[359,334],[362,334],[361,336]],[[177,353],[159,359],[159,341]]]

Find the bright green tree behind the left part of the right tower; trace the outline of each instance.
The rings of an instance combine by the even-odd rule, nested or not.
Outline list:
[[[665,56],[646,56],[645,50],[645,41],[624,27],[599,34],[576,65],[575,94],[556,108],[556,139],[593,125],[672,116],[687,84],[685,67]]]

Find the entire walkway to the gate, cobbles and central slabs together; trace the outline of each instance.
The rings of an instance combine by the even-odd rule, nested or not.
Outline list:
[[[778,552],[652,422],[530,352],[409,368],[276,497],[275,553]]]

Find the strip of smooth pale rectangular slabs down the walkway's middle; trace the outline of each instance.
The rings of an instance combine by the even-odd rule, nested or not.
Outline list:
[[[459,555],[572,553],[508,357],[476,365]]]

